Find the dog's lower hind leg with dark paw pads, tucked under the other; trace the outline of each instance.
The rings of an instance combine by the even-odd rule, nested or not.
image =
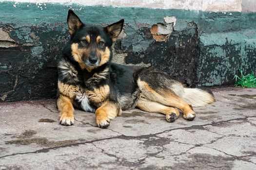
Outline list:
[[[138,100],[137,107],[146,112],[164,114],[165,119],[169,122],[174,122],[179,116],[179,111],[176,108],[168,107],[158,102],[152,102],[146,99]]]

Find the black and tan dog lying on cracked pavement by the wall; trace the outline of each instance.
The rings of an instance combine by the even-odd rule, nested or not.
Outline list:
[[[59,60],[57,106],[62,125],[74,124],[74,107],[95,112],[96,123],[106,128],[122,110],[138,107],[147,112],[165,114],[175,121],[180,109],[183,118],[193,120],[193,106],[214,101],[201,89],[184,88],[170,76],[152,67],[131,67],[111,63],[112,44],[120,34],[124,20],[107,27],[84,24],[68,12],[71,39]]]

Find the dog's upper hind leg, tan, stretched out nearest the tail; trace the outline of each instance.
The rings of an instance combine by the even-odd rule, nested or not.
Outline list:
[[[153,89],[147,82],[141,81],[139,78],[137,84],[142,93],[142,97],[149,101],[180,109],[183,112],[184,119],[193,120],[196,117],[191,104],[184,102],[173,91],[161,87]]]

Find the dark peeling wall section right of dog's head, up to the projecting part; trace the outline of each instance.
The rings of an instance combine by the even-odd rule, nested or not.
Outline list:
[[[168,29],[168,25],[164,27]],[[197,25],[189,22],[184,27],[171,34],[162,31],[161,35],[167,39],[161,41],[155,41],[147,27],[142,27],[137,32],[131,27],[125,27],[127,36],[116,43],[115,49],[127,53],[126,64],[150,64],[168,72],[174,79],[192,85],[196,79]],[[158,25],[158,33],[159,31]]]

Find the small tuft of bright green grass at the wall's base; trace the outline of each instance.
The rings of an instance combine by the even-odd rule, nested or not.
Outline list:
[[[241,86],[241,87],[256,87],[256,76],[254,74],[254,71],[252,71],[251,74],[244,75],[243,70],[238,68],[238,71],[240,73],[240,76],[237,74],[234,76],[233,79],[236,80],[235,86]]]

